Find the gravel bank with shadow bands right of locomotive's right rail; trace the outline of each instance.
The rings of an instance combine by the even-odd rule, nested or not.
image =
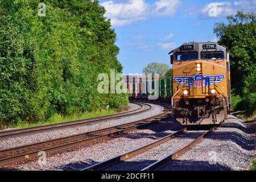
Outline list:
[[[229,115],[228,122],[217,131],[159,170],[248,170],[255,158],[254,148],[253,131],[243,121]]]

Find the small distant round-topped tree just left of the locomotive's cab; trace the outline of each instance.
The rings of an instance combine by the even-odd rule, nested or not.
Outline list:
[[[167,64],[150,63],[143,68],[143,73],[158,73],[160,78],[166,78],[171,75],[172,69]]]

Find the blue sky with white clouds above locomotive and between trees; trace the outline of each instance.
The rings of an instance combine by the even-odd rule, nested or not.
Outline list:
[[[256,12],[256,0],[100,0],[117,34],[123,73],[170,64],[168,52],[184,42],[216,42],[214,23],[237,10]]]

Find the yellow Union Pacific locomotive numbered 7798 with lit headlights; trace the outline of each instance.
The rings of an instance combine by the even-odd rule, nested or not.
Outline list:
[[[230,63],[214,42],[187,42],[172,50],[172,107],[182,125],[215,125],[230,108]]]

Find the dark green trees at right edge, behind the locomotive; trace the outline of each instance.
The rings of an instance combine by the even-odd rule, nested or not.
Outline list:
[[[256,14],[238,11],[228,16],[228,24],[216,23],[214,32],[219,44],[230,53],[231,85],[233,93],[242,98],[249,113],[256,106]]]

